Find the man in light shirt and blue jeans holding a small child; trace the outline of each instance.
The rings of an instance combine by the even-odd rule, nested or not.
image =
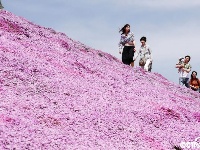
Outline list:
[[[189,64],[191,57],[185,56],[184,63],[180,65],[176,65],[176,68],[180,69],[180,77],[179,84],[185,85],[189,88],[189,73],[191,71],[192,66]]]

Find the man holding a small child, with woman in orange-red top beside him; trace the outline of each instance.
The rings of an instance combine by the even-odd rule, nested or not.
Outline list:
[[[179,84],[185,85],[187,88],[191,88],[194,91],[200,92],[200,80],[197,78],[197,72],[192,71],[191,77],[189,78],[189,73],[192,66],[189,64],[191,57],[185,56],[185,58],[180,58],[179,62],[176,64],[178,72],[180,73]]]

